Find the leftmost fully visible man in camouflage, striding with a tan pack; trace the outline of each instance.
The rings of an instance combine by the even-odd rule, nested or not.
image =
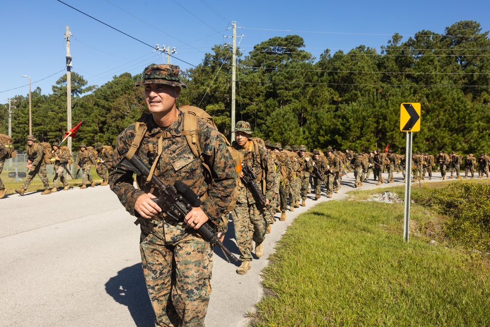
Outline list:
[[[44,162],[44,148],[41,144],[36,143],[34,135],[27,136],[27,144],[27,166],[25,166],[27,168],[27,175],[25,176],[21,188],[15,190],[15,192],[24,195],[32,178],[38,174],[44,185],[44,191],[41,194],[50,194],[51,189],[49,187],[48,172],[46,171],[46,163]]]

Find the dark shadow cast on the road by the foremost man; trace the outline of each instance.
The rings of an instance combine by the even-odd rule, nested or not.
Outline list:
[[[155,326],[141,263],[119,271],[105,283],[105,290],[116,302],[127,306],[137,327]]]

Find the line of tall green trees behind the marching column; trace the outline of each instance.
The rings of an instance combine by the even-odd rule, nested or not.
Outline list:
[[[378,52],[360,45],[346,53],[325,49],[318,60],[298,35],[273,37],[244,55],[237,50],[236,121],[254,136],[284,145],[328,146],[356,152],[404,152],[400,104],[420,102],[421,129],[414,151],[490,151],[490,40],[480,24],[461,21],[444,34],[421,30],[402,42],[394,34]],[[214,46],[202,63],[181,72],[188,90],[179,103],[210,113],[230,137],[232,53]],[[83,121],[73,145],[115,144],[118,134],[147,112],[141,74],[124,73],[99,87],[72,73],[72,122]],[[67,129],[66,75],[52,94],[31,93],[32,129],[40,141],[60,141]],[[12,138],[25,147],[28,97],[16,96]],[[0,132],[8,129],[0,110]]]

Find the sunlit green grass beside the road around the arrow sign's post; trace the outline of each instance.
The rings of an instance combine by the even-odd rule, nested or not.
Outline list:
[[[390,190],[403,199],[403,187]],[[430,245],[438,235],[427,226],[445,222],[417,204],[404,243],[403,204],[360,201],[380,192],[355,191],[295,219],[263,272],[252,326],[490,326],[488,256],[441,235]]]

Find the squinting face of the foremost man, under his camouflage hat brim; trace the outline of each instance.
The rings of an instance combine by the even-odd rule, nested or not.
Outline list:
[[[179,95],[180,87],[155,83],[145,85],[148,110],[154,114],[165,115],[170,112],[175,107],[175,100]]]

